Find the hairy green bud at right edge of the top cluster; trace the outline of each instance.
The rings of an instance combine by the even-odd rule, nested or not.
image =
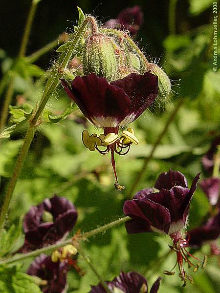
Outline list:
[[[171,84],[170,84],[170,79],[166,75],[166,73],[161,69],[158,65],[151,63],[152,69],[151,73],[156,75],[158,77],[158,94],[157,97],[161,100],[164,100],[167,98],[167,96],[170,93],[171,90]]]

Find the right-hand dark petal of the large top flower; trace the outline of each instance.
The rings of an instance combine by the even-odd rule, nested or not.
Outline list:
[[[158,93],[158,78],[150,72],[145,72],[144,75],[131,73],[111,84],[124,89],[132,102],[127,115],[129,117],[123,123],[131,123],[137,119],[147,107],[152,105]]]

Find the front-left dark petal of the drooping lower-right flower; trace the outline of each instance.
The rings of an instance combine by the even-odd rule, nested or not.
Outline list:
[[[129,234],[142,232],[144,226],[146,226],[146,232],[152,231],[152,227],[165,233],[169,231],[171,224],[169,210],[146,197],[143,200],[127,200],[123,212],[132,218],[131,221],[125,223]],[[142,223],[141,230],[138,229],[140,223]]]

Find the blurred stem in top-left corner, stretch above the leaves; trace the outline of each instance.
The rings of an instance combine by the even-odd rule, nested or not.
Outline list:
[[[31,2],[31,7],[30,7],[30,10],[28,12],[28,17],[27,17],[27,22],[26,22],[26,25],[24,28],[22,44],[21,44],[20,51],[18,54],[19,57],[23,57],[26,53],[27,43],[28,43],[28,39],[30,36],[31,26],[34,21],[34,16],[36,13],[38,2],[39,1],[36,1],[36,0],[32,0],[32,2]]]

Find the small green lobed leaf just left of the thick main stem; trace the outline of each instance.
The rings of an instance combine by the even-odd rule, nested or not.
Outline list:
[[[23,103],[22,106],[9,106],[9,113],[12,114],[11,122],[20,123],[31,117],[33,107],[30,104]]]

